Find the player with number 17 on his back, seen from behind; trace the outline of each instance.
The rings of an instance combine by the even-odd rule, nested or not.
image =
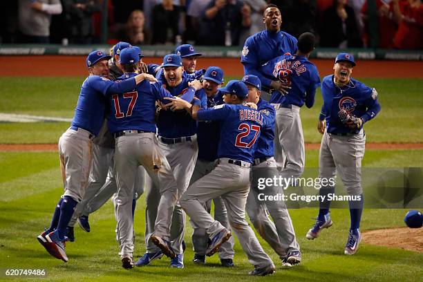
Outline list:
[[[140,58],[135,48],[126,48],[120,55],[125,73],[119,79],[125,81],[138,72]],[[145,75],[150,81],[152,75]],[[196,88],[189,87],[185,96],[194,97]],[[164,254],[175,256],[168,247],[171,215],[176,204],[178,190],[169,162],[158,148],[156,139],[155,103],[163,97],[173,97],[160,83],[143,82],[135,91],[111,96],[109,129],[115,135],[115,173],[118,184],[116,216],[122,266],[133,267],[133,218],[131,216],[133,183],[137,167],[142,165],[153,182],[160,187],[160,203],[152,240],[159,243]]]

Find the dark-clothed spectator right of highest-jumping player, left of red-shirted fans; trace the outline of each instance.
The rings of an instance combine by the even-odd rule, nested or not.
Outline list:
[[[347,1],[334,0],[332,6],[323,12],[320,46],[351,48],[363,45],[354,10],[347,5]]]

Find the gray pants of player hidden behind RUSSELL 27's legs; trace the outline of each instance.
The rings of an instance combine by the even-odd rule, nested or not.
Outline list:
[[[194,169],[194,173],[192,173],[191,182],[189,185],[192,185],[198,179],[202,178],[203,176],[210,173],[214,168],[216,168],[217,160],[213,162],[209,162],[206,160],[197,159],[196,167]],[[222,197],[214,198],[214,219],[218,220],[226,229],[230,230],[229,221],[227,220],[227,210],[225,207],[225,203],[223,202]],[[210,214],[212,210],[212,200],[208,200],[205,203],[206,211]],[[191,219],[189,220],[191,223],[193,230],[192,233],[192,247],[194,248],[194,252],[196,254],[200,254],[205,256],[207,252],[207,245],[209,243],[209,236],[207,235],[207,230],[198,226],[194,221]],[[234,245],[235,240],[234,237],[229,238],[228,241],[222,244],[219,249],[219,258],[220,259],[233,259],[234,258]]]

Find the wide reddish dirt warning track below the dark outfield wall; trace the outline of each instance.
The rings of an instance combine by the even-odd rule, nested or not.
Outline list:
[[[86,76],[85,56],[0,56],[0,76],[68,77]],[[161,58],[144,57],[147,64],[160,64]],[[321,76],[333,73],[333,59],[312,59]],[[227,76],[243,75],[239,58],[200,58],[198,68],[220,66]],[[359,60],[354,77],[423,78],[423,62]]]

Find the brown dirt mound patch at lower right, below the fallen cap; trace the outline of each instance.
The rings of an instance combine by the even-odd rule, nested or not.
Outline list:
[[[423,252],[423,228],[377,229],[363,232],[361,236],[363,243]]]

